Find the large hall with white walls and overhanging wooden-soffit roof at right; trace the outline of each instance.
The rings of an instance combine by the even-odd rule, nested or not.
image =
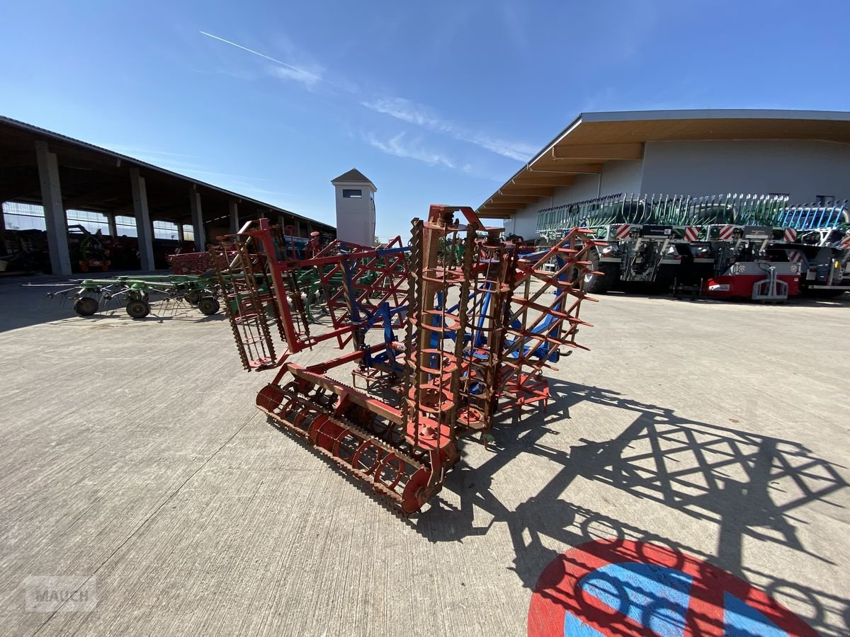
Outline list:
[[[850,112],[582,113],[478,212],[533,240],[539,211],[621,193],[850,199]]]

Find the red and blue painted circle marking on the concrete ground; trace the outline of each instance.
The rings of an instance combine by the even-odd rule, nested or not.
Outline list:
[[[732,573],[666,546],[598,540],[558,555],[529,606],[529,637],[817,637]]]

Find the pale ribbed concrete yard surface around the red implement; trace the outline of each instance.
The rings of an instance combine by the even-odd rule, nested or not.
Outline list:
[[[601,538],[850,633],[850,298],[605,296],[548,414],[400,521],[258,414],[273,373],[222,317],[42,296],[0,285],[2,634],[522,635],[547,564]],[[33,576],[88,578],[94,612],[26,612]]]

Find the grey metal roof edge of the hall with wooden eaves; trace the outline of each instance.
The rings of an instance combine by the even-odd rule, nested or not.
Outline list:
[[[501,185],[504,186],[530,167],[541,155],[545,155],[555,144],[570,134],[570,132],[581,124],[588,122],[615,122],[615,121],[658,121],[658,120],[711,120],[711,119],[785,119],[785,120],[810,120],[810,121],[847,121],[850,122],[850,111],[847,110],[793,110],[793,109],[679,109],[679,110],[598,110],[587,113],[579,113],[575,119],[558,132],[552,140],[543,146],[540,152],[534,155],[517,172],[514,172]],[[501,186],[496,192],[490,194],[484,202],[499,194]],[[482,202],[479,207],[484,205]]]

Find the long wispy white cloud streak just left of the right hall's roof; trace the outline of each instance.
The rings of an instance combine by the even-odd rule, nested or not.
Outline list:
[[[507,142],[503,139],[493,138],[483,132],[467,130],[453,121],[444,120],[433,114],[428,107],[416,104],[410,99],[388,98],[377,99],[373,102],[361,102],[367,109],[383,113],[409,124],[416,124],[432,131],[442,132],[459,141],[475,144],[480,148],[490,150],[496,155],[502,155],[516,161],[528,161],[535,154],[536,147],[530,144]]]

